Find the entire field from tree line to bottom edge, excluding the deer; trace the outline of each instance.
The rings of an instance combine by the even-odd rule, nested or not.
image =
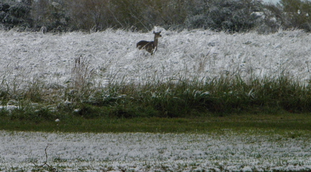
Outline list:
[[[0,147],[0,171],[52,171],[33,167],[44,163],[46,142],[55,143],[51,159],[64,171],[310,171],[309,34],[162,33],[150,56],[135,47],[150,34],[0,32],[0,134],[13,152]],[[47,139],[54,135],[75,139],[62,145]],[[95,145],[81,154],[67,146],[97,144],[97,135],[104,143],[96,156]],[[150,154],[144,146],[153,142]],[[111,161],[101,156],[106,143],[117,149],[105,148]],[[72,156],[59,155],[58,146]],[[22,154],[13,156],[19,148]],[[133,162],[125,160],[128,153]]]

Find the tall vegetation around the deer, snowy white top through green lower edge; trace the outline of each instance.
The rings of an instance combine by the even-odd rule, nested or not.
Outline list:
[[[152,33],[0,32],[2,114],[55,120],[63,112],[181,117],[311,110],[310,34],[155,30],[162,37],[154,56],[136,48]]]

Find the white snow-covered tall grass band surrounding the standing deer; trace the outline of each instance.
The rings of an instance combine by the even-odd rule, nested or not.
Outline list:
[[[156,28],[156,30],[162,30]],[[43,81],[65,86],[75,59],[84,59],[97,80],[145,83],[152,80],[213,78],[221,74],[311,78],[311,35],[302,31],[261,35],[162,30],[158,51],[136,49],[150,33],[107,30],[92,34],[0,31],[0,82],[19,87]]]

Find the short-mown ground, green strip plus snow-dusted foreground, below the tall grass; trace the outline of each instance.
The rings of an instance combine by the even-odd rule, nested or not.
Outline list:
[[[5,130],[5,131],[3,131]],[[311,115],[0,120],[5,172],[310,172]]]

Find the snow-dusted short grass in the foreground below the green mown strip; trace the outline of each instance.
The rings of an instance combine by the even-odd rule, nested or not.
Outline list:
[[[258,131],[222,134],[63,134],[0,131],[0,168],[30,172],[45,161],[59,171],[311,170],[311,138]]]

